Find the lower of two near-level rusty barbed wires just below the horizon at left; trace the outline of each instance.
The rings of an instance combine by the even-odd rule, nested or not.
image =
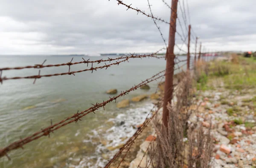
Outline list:
[[[91,68],[87,68],[87,69],[80,70],[80,71],[71,71],[71,72],[70,72],[70,65],[69,65],[69,71],[64,72],[64,73],[40,75],[40,70],[39,70],[38,75],[32,75],[32,76],[26,76],[26,77],[3,77],[3,78],[1,77],[0,82],[2,83],[4,80],[17,80],[17,79],[35,79],[36,80],[36,79],[39,79],[41,77],[52,77],[52,76],[62,76],[62,75],[71,75],[71,74],[75,75],[76,73],[80,73],[80,72],[84,72],[84,71],[92,71],[92,73],[93,73],[93,70],[97,71],[97,69],[102,69],[102,68],[107,69],[108,67],[110,67],[112,65],[119,65],[119,63],[123,63],[125,61],[128,61],[131,58],[145,58],[145,57],[156,57],[156,56],[154,56],[154,54],[137,55],[137,56],[131,55],[131,56],[127,56],[127,57],[122,57],[121,59],[124,59],[124,60],[118,61],[118,62],[116,61],[116,63],[111,63],[111,64],[108,64],[108,65],[105,63],[105,65],[99,66],[99,67],[93,67],[93,63],[91,63]],[[156,57],[156,58],[165,58],[165,57],[162,56],[162,57]],[[118,60],[118,59],[116,59],[116,60]],[[72,63],[70,62],[70,64],[72,64]],[[87,66],[88,66],[88,63],[87,63]],[[34,83],[35,83],[35,80],[34,80]]]

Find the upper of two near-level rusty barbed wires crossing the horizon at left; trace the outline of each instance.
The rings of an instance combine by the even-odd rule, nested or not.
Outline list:
[[[151,53],[151,54],[148,54],[148,55],[152,55],[151,57],[156,57],[156,58],[158,58],[157,56],[153,56],[153,55],[155,55],[155,54],[157,54],[157,53],[159,53],[160,51],[162,51],[162,50],[164,50],[164,49],[166,49],[166,48],[161,48],[160,50],[158,50],[158,51],[156,51],[156,52],[154,52],[154,53]],[[131,54],[130,53],[130,55],[133,55],[134,56],[134,54]],[[136,55],[135,55],[136,56]],[[135,57],[134,56],[134,57]],[[145,56],[145,54],[144,55],[137,55],[137,56]],[[90,59],[88,59],[88,60],[84,60],[84,58],[82,58],[84,61],[80,61],[80,62],[76,62],[76,63],[71,63],[72,62],[72,60],[73,60],[73,58],[72,58],[72,60],[70,61],[70,62],[68,62],[68,63],[62,63],[62,64],[54,64],[54,65],[44,65],[44,63],[47,61],[47,60],[44,60],[44,62],[42,63],[42,64],[35,64],[35,65],[28,65],[28,66],[20,66],[20,67],[12,67],[12,68],[0,68],[0,71],[6,71],[6,70],[20,70],[20,69],[28,69],[28,68],[36,68],[36,69],[38,69],[38,68],[46,68],[46,67],[58,67],[58,66],[65,66],[65,65],[68,65],[68,66],[71,66],[71,65],[76,65],[76,64],[82,64],[82,63],[85,63],[85,64],[89,64],[89,63],[102,63],[102,62],[111,62],[111,61],[114,61],[114,60],[122,60],[122,59],[126,59],[127,57],[130,57],[130,56],[128,56],[128,55],[125,55],[125,56],[121,56],[121,57],[117,57],[117,58],[109,58],[108,57],[108,60],[103,60],[103,59],[101,59],[101,60],[95,60],[95,61],[89,61]]]

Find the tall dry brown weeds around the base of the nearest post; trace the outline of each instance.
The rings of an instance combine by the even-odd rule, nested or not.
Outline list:
[[[151,148],[153,168],[208,168],[212,142],[210,130],[204,131],[201,125],[189,125],[189,117],[196,110],[192,97],[192,79],[186,73],[175,91],[175,102],[168,105],[169,125],[165,128],[155,120],[157,140]],[[197,128],[197,129],[194,129]]]

